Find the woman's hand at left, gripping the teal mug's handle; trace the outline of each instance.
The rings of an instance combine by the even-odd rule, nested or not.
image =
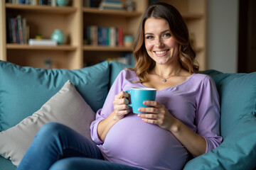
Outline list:
[[[121,91],[119,94],[114,96],[114,119],[121,120],[124,115],[129,113],[129,94],[127,92]]]

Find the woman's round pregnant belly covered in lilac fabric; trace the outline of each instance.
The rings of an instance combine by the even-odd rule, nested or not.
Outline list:
[[[134,113],[111,128],[101,149],[111,162],[144,169],[181,169],[188,154],[171,132],[144,123]]]

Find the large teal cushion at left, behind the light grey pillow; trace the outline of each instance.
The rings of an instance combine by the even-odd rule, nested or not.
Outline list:
[[[0,131],[32,115],[68,79],[93,111],[102,108],[108,92],[107,61],[82,69],[34,69],[0,61]]]

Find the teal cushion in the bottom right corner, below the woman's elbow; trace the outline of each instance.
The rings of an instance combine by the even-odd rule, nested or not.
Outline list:
[[[256,167],[255,112],[240,118],[223,143],[188,162],[184,170],[254,169]]]

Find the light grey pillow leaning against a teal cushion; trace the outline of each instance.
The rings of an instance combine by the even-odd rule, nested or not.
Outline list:
[[[11,162],[18,166],[38,130],[49,122],[63,123],[91,140],[90,123],[94,119],[95,113],[68,80],[63,88],[33,115],[0,132],[0,155],[11,159]]]

